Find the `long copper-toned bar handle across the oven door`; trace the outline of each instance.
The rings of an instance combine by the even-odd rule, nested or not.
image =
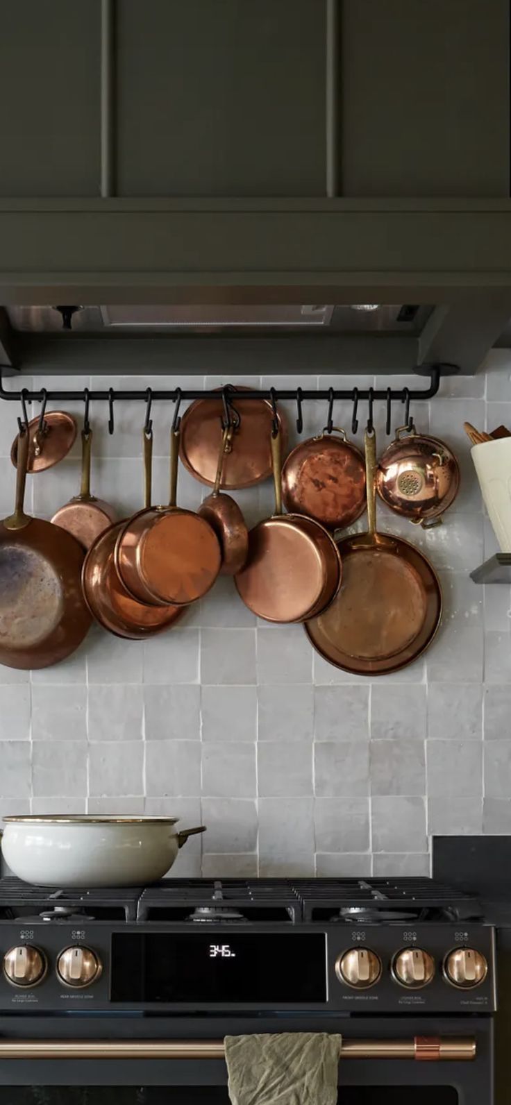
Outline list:
[[[408,1040],[343,1040],[341,1059],[415,1059],[467,1062],[476,1059],[471,1036],[411,1036]],[[222,1040],[0,1040],[2,1059],[223,1059]]]

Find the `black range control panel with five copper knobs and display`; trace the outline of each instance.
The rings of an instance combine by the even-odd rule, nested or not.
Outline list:
[[[0,1011],[490,1013],[480,924],[0,926]]]

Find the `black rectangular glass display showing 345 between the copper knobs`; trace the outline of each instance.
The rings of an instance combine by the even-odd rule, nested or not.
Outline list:
[[[111,1000],[288,1004],[326,1001],[323,933],[114,933]]]

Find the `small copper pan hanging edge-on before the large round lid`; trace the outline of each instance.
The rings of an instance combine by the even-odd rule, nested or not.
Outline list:
[[[222,554],[220,573],[222,576],[236,576],[237,571],[241,571],[249,552],[249,535],[240,507],[231,495],[219,491],[223,459],[230,446],[232,433],[232,427],[226,427],[223,430],[215,487],[212,494],[202,501],[197,511],[201,518],[206,518],[211,529],[215,529],[220,541]]]

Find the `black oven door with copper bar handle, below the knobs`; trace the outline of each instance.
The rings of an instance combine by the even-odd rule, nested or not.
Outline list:
[[[493,1105],[491,1019],[425,1021],[1,1020],[0,1105],[228,1105],[223,1036],[268,1031],[342,1033],[338,1105]]]

